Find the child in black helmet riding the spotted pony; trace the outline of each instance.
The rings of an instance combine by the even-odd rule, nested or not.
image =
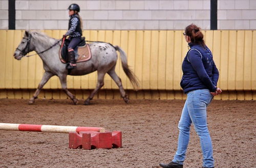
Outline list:
[[[69,36],[70,43],[68,45],[68,57],[69,63],[67,64],[67,69],[73,69],[76,67],[75,53],[74,49],[81,41],[82,36],[82,19],[79,16],[80,7],[77,4],[71,4],[69,6],[69,30],[63,35],[63,37]]]

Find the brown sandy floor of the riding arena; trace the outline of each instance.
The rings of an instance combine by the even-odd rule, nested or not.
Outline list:
[[[123,148],[69,149],[68,134],[0,130],[0,167],[159,167],[172,160],[183,100],[0,99],[0,122],[93,126],[122,131]],[[208,127],[216,167],[255,167],[255,101],[214,100]],[[184,167],[201,167],[199,138],[191,127]]]

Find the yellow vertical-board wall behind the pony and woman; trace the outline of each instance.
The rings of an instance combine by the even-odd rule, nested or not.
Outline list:
[[[24,32],[0,31],[0,44],[3,46],[3,52],[0,55],[2,60],[0,89],[8,89],[8,92],[2,91],[2,97],[30,97],[34,90],[26,96],[28,91],[26,89],[36,89],[44,72],[38,55],[24,57],[21,61],[13,58],[13,52],[24,36]],[[62,34],[66,33],[59,30],[44,32],[56,39],[60,39]],[[183,31],[83,31],[87,40],[105,41],[120,46],[127,54],[128,65],[135,72],[140,89],[143,90],[133,95],[135,98],[152,99],[185,99],[185,95],[181,94],[180,79],[181,64],[188,48],[182,33]],[[254,99],[255,95],[252,91],[256,90],[256,66],[253,66],[256,64],[255,31],[203,31],[203,34],[220,71],[218,86],[226,92],[217,99]],[[35,52],[29,54],[33,53]],[[116,73],[122,79],[124,89],[133,89],[122,70],[120,60],[118,56]],[[105,76],[104,81],[103,89],[109,90],[97,96],[110,99],[120,97],[119,91],[112,91],[112,89],[117,90],[118,87],[109,75]],[[75,89],[79,98],[84,96],[82,92],[78,93],[79,89],[95,89],[96,82],[96,72],[84,76],[68,76],[68,88]],[[60,82],[56,76],[52,77],[44,87],[44,89],[54,90],[60,88]],[[11,91],[12,89],[25,90],[20,92]],[[47,98],[63,98],[59,91],[46,90],[42,93]],[[112,94],[108,95],[109,93]],[[115,95],[117,93],[118,95]]]

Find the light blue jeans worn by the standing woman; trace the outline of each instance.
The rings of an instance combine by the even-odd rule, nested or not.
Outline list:
[[[187,145],[189,142],[189,131],[191,123],[200,137],[201,149],[203,152],[203,166],[214,167],[212,156],[212,144],[207,127],[206,107],[212,100],[208,89],[199,89],[187,93],[187,100],[182,110],[179,121],[178,149],[173,162],[183,164]]]

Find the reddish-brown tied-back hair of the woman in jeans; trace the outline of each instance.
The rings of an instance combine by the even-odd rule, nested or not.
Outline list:
[[[195,24],[190,24],[185,29],[185,34],[190,37],[191,43],[193,44],[200,44],[201,46],[205,47],[204,43],[204,35],[200,31],[200,27]]]

